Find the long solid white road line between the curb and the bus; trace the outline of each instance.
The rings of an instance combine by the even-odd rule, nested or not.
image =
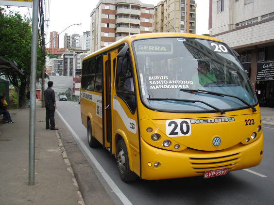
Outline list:
[[[119,197],[121,202],[124,205],[132,205],[131,202],[128,200],[128,198],[123,194],[123,192],[117,187],[117,185],[114,183],[114,181],[109,177],[109,175],[104,171],[103,167],[99,164],[99,162],[96,160],[96,158],[91,154],[91,152],[86,147],[85,143],[79,138],[79,136],[74,132],[74,130],[71,128],[71,126],[68,125],[67,121],[63,118],[63,116],[56,110],[56,112],[59,114],[60,118],[63,120],[65,125],[68,127],[68,130],[70,133],[75,137],[75,139],[79,142],[79,144],[82,146],[82,148],[85,150],[88,157],[91,159],[91,161],[94,163],[98,171],[102,174],[104,180],[108,183],[110,188],[114,191],[114,193]]]

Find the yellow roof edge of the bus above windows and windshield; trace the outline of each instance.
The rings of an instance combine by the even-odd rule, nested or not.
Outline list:
[[[206,39],[206,40],[211,40],[211,41],[219,41],[219,42],[223,42],[217,38],[213,38],[210,36],[205,36],[205,35],[197,35],[197,34],[190,34],[190,33],[171,33],[171,32],[159,32],[159,33],[143,33],[143,34],[134,34],[134,35],[128,35],[116,42],[113,42],[112,44],[103,47],[91,54],[89,54],[88,56],[86,56],[83,61],[85,61],[86,59],[91,58],[92,56],[96,56],[100,53],[104,53],[105,51],[113,48],[113,47],[117,47],[123,43],[128,43],[128,45],[130,46],[131,41],[134,41],[136,39],[143,39],[143,38],[154,38],[154,37],[185,37],[185,38],[200,38],[200,39]]]

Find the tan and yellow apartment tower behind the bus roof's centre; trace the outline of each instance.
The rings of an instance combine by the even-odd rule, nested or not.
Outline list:
[[[161,0],[153,11],[153,32],[196,33],[195,0]]]

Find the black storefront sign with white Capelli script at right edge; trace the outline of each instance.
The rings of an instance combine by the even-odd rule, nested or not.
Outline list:
[[[274,61],[257,63],[256,80],[274,79]]]

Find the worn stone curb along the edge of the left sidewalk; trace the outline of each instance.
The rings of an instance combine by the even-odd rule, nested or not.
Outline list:
[[[65,150],[65,148],[64,148],[64,145],[63,145],[63,143],[62,143],[62,141],[61,141],[61,139],[60,139],[60,136],[59,136],[58,131],[56,130],[55,133],[56,133],[56,137],[57,137],[58,142],[59,142],[59,147],[60,147],[60,149],[61,149],[61,151],[62,151],[63,159],[64,159],[65,163],[69,166],[67,170],[68,170],[68,172],[70,172],[71,175],[72,175],[71,180],[73,181],[73,184],[74,184],[74,185],[77,187],[77,189],[78,189],[77,194],[78,194],[79,200],[77,200],[77,201],[78,201],[78,203],[79,203],[80,205],[85,205],[85,202],[84,202],[82,193],[81,193],[81,191],[80,191],[80,189],[79,189],[78,183],[77,183],[77,181],[76,181],[76,179],[75,179],[75,175],[74,175],[73,169],[72,169],[71,164],[70,164],[70,162],[69,162],[67,152],[66,152],[66,150]]]

